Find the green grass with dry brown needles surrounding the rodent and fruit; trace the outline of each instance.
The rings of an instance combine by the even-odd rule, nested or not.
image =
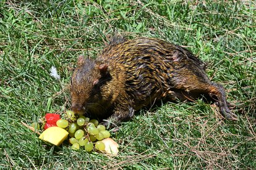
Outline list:
[[[254,169],[255,9],[254,1],[0,1],[0,169]],[[114,30],[190,49],[239,120],[201,100],[165,103],[121,124],[117,156],[43,144],[21,121],[69,109],[77,56],[96,57]]]

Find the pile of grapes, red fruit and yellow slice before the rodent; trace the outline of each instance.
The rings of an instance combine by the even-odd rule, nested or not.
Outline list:
[[[118,145],[109,138],[110,133],[105,126],[99,124],[96,119],[75,116],[70,110],[66,111],[64,118],[55,113],[46,113],[44,129],[39,138],[54,145],[60,145],[69,138],[74,150],[83,148],[90,152],[95,148],[107,153],[118,152]]]

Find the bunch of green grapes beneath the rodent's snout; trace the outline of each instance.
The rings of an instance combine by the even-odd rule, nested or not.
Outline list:
[[[72,149],[84,148],[87,152],[93,150],[105,150],[105,144],[101,140],[110,137],[109,131],[96,119],[89,119],[85,116],[75,116],[73,111],[67,110],[64,119],[56,122],[58,127],[69,132],[69,143]]]

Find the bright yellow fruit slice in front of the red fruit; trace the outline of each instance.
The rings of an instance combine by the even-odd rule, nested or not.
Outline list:
[[[67,132],[65,129],[53,126],[48,127],[48,129],[43,131],[43,133],[41,133],[41,135],[38,138],[44,140],[45,142],[49,142],[53,145],[59,146],[65,139],[67,139],[68,135],[69,132]]]

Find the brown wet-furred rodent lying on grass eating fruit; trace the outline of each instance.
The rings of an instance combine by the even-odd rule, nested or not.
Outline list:
[[[190,51],[161,39],[121,36],[114,36],[96,59],[79,56],[70,87],[75,113],[113,124],[155,100],[194,100],[202,94],[217,103],[224,118],[237,118],[223,86],[209,80],[204,63]]]

